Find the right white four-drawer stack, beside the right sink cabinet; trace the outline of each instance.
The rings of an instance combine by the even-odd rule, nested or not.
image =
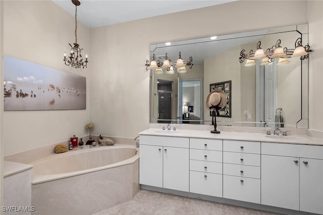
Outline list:
[[[260,142],[223,140],[223,197],[260,203]]]

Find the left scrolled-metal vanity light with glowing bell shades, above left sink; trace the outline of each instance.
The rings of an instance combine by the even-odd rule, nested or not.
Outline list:
[[[148,71],[149,69],[155,70],[155,73],[163,73],[162,68],[166,69],[166,73],[173,74],[173,66],[175,66],[177,69],[178,73],[185,73],[186,69],[185,66],[188,66],[188,68],[192,69],[193,67],[193,58],[192,56],[189,58],[188,61],[185,61],[181,57],[181,52],[179,53],[179,58],[177,61],[172,62],[171,59],[167,56],[167,53],[165,55],[165,60],[163,62],[160,62],[159,60],[156,61],[156,56],[155,54],[152,55],[152,60],[149,63],[149,61],[146,61],[146,70]]]

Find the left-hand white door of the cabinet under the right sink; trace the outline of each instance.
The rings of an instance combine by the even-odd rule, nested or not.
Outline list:
[[[299,158],[261,155],[261,204],[299,210]]]

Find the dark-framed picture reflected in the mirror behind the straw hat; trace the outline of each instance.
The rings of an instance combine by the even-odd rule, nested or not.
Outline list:
[[[219,111],[219,117],[231,118],[231,81],[224,81],[219,83],[210,84],[210,92],[213,90],[223,91],[227,96],[227,103],[222,110]],[[210,116],[212,112],[210,111]]]

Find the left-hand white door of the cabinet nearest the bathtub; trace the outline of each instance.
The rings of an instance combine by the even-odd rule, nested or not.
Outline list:
[[[163,147],[140,145],[139,183],[163,187]]]

